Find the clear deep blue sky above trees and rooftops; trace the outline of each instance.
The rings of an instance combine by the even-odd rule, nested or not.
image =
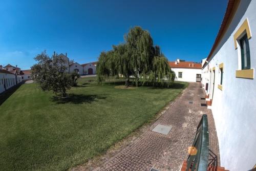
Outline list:
[[[34,57],[68,53],[78,63],[148,30],[168,60],[201,61],[220,28],[227,0],[59,0],[0,2],[0,65],[29,69]]]

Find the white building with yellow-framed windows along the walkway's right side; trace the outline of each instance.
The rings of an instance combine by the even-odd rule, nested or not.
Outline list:
[[[202,83],[214,115],[221,165],[249,170],[256,164],[256,1],[229,0]]]

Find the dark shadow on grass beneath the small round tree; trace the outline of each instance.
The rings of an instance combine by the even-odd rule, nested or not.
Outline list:
[[[100,99],[105,99],[105,96],[99,95],[83,95],[83,94],[68,94],[67,97],[53,96],[51,100],[57,104],[73,103],[73,104],[82,104],[82,103],[91,103]]]

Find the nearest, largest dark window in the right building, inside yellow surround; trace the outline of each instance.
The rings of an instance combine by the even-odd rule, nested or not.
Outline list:
[[[240,49],[241,49],[241,69],[246,70],[250,69],[250,48],[249,48],[249,41],[247,38],[247,34],[245,34],[240,39]]]

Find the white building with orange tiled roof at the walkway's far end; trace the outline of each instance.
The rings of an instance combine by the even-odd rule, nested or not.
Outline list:
[[[177,61],[169,62],[172,71],[175,72],[177,81],[200,82],[202,74],[202,64],[195,62]]]

